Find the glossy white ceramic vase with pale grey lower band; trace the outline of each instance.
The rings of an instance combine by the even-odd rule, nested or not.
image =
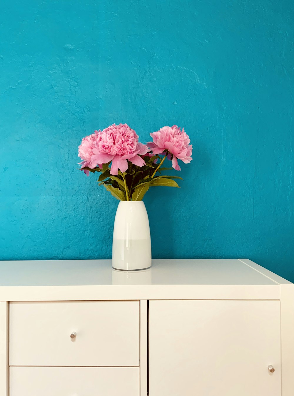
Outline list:
[[[134,271],[151,267],[151,239],[143,201],[118,204],[113,228],[112,267]]]

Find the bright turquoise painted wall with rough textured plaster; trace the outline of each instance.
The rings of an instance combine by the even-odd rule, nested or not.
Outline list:
[[[153,257],[247,257],[294,282],[292,0],[2,0],[0,259],[110,258],[84,135],[190,135],[145,198]]]

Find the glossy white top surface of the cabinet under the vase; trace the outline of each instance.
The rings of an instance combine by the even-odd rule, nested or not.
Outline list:
[[[111,260],[0,261],[0,287],[281,283],[282,278],[273,280],[269,274],[275,274],[247,261],[249,264],[243,259],[157,259],[148,270],[132,272],[113,270]]]

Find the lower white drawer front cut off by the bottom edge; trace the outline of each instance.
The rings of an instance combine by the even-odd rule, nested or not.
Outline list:
[[[10,396],[139,396],[139,367],[10,367]]]

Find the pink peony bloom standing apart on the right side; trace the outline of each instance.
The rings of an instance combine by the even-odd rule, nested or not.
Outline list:
[[[172,167],[180,171],[178,160],[182,160],[185,164],[191,162],[192,145],[184,128],[181,130],[177,125],[164,126],[159,131],[150,133],[153,142],[147,143],[153,154],[162,154],[168,151],[168,157],[172,155]]]

